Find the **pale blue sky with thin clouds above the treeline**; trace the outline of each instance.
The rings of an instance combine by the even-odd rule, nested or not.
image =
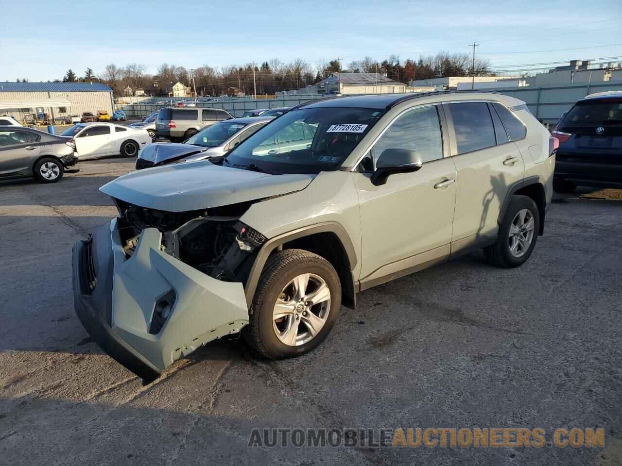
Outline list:
[[[0,0],[0,81],[79,76],[108,63],[186,68],[279,58],[476,54],[491,65],[622,57],[622,2]],[[596,47],[609,45],[608,47]],[[557,50],[557,49],[574,50]],[[550,51],[549,50],[554,50]],[[529,52],[529,53],[522,53]],[[622,60],[618,60],[622,61]]]

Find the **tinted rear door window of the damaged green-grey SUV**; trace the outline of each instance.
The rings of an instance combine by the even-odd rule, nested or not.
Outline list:
[[[493,119],[485,102],[449,104],[449,109],[456,134],[458,155],[493,147],[496,144]]]

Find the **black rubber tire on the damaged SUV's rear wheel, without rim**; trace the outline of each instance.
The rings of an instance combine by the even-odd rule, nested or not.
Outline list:
[[[510,229],[513,226],[515,217],[520,211],[527,209],[531,212],[534,221],[533,233],[529,247],[522,253],[521,257],[515,257],[510,251]],[[511,268],[518,267],[527,262],[529,256],[536,247],[538,232],[540,231],[540,214],[536,203],[527,196],[519,196],[514,194],[509,201],[508,209],[503,217],[503,221],[499,226],[497,240],[493,245],[484,249],[488,262],[497,267]]]

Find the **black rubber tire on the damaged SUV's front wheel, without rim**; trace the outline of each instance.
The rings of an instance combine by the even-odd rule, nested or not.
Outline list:
[[[328,290],[330,290],[328,316],[322,329],[310,341],[297,346],[287,345],[276,335],[272,313],[281,291],[290,281],[302,273],[312,273],[325,281]],[[250,323],[244,327],[243,336],[259,354],[269,359],[297,357],[315,349],[322,343],[335,324],[340,307],[341,283],[330,262],[317,254],[302,249],[279,251],[267,260],[264,270],[261,272],[253,298],[253,306],[249,313]],[[306,327],[302,327],[302,332],[304,331],[307,331]]]

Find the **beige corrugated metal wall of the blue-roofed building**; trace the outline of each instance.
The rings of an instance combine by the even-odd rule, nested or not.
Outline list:
[[[8,100],[29,100],[29,99],[55,99],[63,98],[71,102],[71,107],[66,113],[58,114],[58,109],[54,109],[54,116],[81,115],[82,112],[97,113],[100,110],[107,111],[112,114],[113,100],[110,92],[0,92],[0,114],[7,113],[11,116],[21,119],[19,112],[8,111],[2,108],[2,101]],[[46,109],[47,111],[47,109]],[[32,110],[34,112],[34,109]]]

